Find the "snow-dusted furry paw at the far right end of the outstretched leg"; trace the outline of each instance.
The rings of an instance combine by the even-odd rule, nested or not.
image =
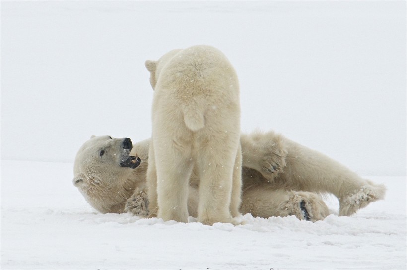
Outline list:
[[[370,183],[350,195],[339,198],[339,216],[350,216],[370,202],[383,199],[385,193],[385,186]]]

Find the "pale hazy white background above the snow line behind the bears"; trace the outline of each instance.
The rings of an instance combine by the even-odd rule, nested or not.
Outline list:
[[[196,44],[236,68],[243,132],[406,174],[405,1],[2,1],[1,159],[73,162],[91,135],[148,138],[144,61]]]

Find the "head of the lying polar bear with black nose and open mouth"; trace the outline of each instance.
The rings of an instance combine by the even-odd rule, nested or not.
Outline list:
[[[131,192],[124,189],[124,182],[141,163],[130,155],[132,148],[129,138],[92,136],[77,152],[73,185],[98,211],[118,212],[123,207],[123,197]]]

